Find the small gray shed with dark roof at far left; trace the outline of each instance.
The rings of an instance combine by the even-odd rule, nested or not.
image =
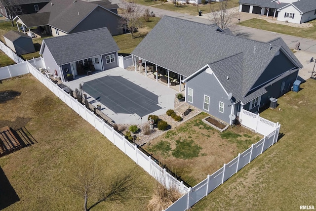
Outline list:
[[[6,45],[17,55],[35,52],[32,38],[22,32],[9,31],[3,35]]]

